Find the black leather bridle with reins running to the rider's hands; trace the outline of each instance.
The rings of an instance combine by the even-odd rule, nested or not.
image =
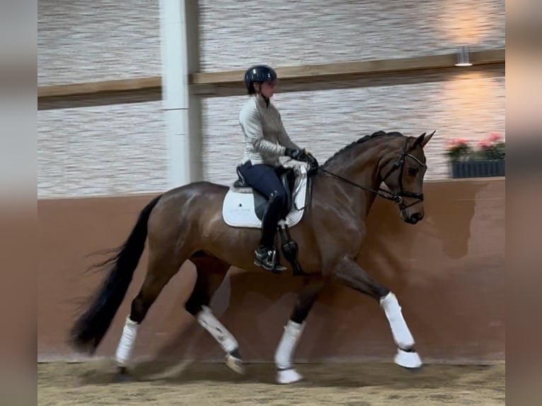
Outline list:
[[[423,193],[414,193],[414,192],[409,192],[408,190],[403,190],[403,170],[405,169],[405,160],[406,160],[406,158],[407,157],[412,158],[420,166],[422,166],[422,168],[427,168],[427,165],[425,163],[423,163],[418,158],[413,156],[412,153],[410,153],[410,151],[413,149],[413,147],[408,149],[408,140],[409,139],[406,139],[405,146],[403,146],[403,149],[401,150],[400,156],[397,158],[397,161],[395,161],[395,163],[393,163],[393,166],[390,168],[390,170],[388,170],[386,175],[384,175],[384,177],[382,178],[382,182],[384,182],[389,177],[389,175],[391,175],[393,172],[395,172],[398,169],[400,170],[400,173],[399,173],[399,190],[397,192],[395,192],[395,193],[391,193],[388,190],[383,189],[382,187],[379,187],[378,190],[374,190],[371,187],[367,187],[367,186],[364,186],[364,185],[359,185],[359,183],[352,182],[352,180],[348,180],[346,178],[343,178],[340,175],[336,175],[335,173],[332,173],[332,172],[330,172],[329,170],[327,170],[325,168],[318,168],[317,170],[321,170],[322,172],[328,173],[329,175],[332,175],[335,178],[338,178],[338,179],[342,180],[343,182],[347,182],[348,184],[350,184],[350,185],[352,185],[354,187],[359,187],[360,189],[367,190],[369,192],[374,192],[374,193],[376,193],[376,195],[379,195],[380,197],[383,197],[384,199],[391,200],[392,202],[396,202],[396,204],[398,204],[398,206],[399,206],[399,209],[404,210],[404,209],[407,209],[410,206],[413,206],[417,202],[422,202],[423,199],[424,199]],[[404,204],[403,203],[403,197],[410,197],[410,198],[415,199],[415,201],[413,203],[410,203],[410,204]]]

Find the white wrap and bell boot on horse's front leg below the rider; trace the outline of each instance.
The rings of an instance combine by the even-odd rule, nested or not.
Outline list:
[[[301,337],[303,328],[304,324],[294,323],[292,320],[288,320],[287,325],[284,327],[284,333],[275,352],[278,383],[294,383],[303,379],[303,376],[292,366],[292,354],[299,337]]]

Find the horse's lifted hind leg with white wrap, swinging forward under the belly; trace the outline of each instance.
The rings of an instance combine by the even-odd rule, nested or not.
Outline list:
[[[219,288],[230,265],[217,257],[199,252],[190,257],[197,271],[194,290],[185,303],[185,309],[214,337],[226,352],[226,365],[237,373],[244,373],[239,345],[235,337],[217,319],[209,308],[214,292]]]

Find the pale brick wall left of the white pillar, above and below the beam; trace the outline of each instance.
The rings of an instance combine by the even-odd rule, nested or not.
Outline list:
[[[38,4],[38,84],[160,76],[158,1]],[[38,197],[166,187],[161,102],[38,111]]]

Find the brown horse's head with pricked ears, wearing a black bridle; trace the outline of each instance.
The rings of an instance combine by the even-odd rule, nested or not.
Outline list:
[[[433,135],[424,132],[417,138],[397,137],[393,141],[396,148],[379,163],[382,180],[398,204],[401,219],[408,224],[416,224],[425,214],[423,179],[427,166],[423,148]]]

